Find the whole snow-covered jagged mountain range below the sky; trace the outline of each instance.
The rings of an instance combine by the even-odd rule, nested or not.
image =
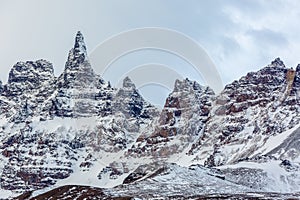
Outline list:
[[[74,185],[103,199],[295,196],[299,89],[300,65],[275,59],[220,94],[177,80],[159,110],[129,77],[113,88],[97,75],[78,32],[59,77],[37,60],[18,62],[0,81],[0,194]]]

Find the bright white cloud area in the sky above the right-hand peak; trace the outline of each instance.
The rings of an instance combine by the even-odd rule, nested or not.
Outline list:
[[[220,33],[219,40],[226,35],[239,47],[230,48],[221,42],[218,44],[221,48],[215,51],[211,44],[210,50],[225,82],[239,78],[246,71],[257,70],[276,57],[281,57],[287,66],[297,65],[300,50],[300,39],[296,36],[300,33],[298,2],[230,1],[222,5],[233,24]],[[224,54],[226,47],[231,53]]]

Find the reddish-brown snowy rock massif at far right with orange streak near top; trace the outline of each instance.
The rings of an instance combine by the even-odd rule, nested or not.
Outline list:
[[[209,166],[253,157],[269,137],[299,123],[298,78],[280,59],[225,87],[190,152]]]

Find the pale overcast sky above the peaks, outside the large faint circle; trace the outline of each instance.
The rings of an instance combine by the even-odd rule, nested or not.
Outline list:
[[[39,58],[58,75],[77,30],[90,52],[122,31],[163,27],[196,40],[227,84],[276,57],[296,67],[299,19],[297,0],[0,0],[0,80],[17,61]]]

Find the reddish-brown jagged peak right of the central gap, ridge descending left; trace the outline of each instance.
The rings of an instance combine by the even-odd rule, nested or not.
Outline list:
[[[209,87],[177,80],[154,129],[140,136],[130,153],[161,158],[183,153],[202,134],[213,98]]]

